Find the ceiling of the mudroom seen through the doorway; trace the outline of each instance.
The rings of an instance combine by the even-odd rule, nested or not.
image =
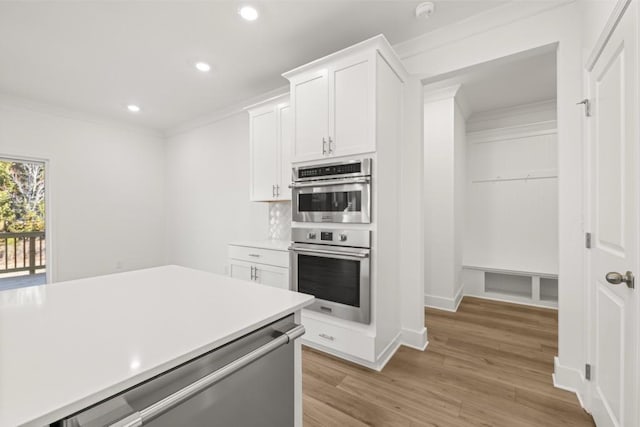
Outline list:
[[[423,81],[428,90],[462,84],[473,114],[556,98],[556,51],[549,45]]]

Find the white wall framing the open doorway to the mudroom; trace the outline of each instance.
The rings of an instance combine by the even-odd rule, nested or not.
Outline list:
[[[577,2],[580,3],[580,2]],[[559,354],[557,383],[583,393],[586,363],[583,241],[582,10],[572,2],[512,2],[478,19],[396,46],[425,79],[557,44],[559,164]],[[526,16],[529,14],[530,16]],[[425,171],[426,172],[426,171]]]

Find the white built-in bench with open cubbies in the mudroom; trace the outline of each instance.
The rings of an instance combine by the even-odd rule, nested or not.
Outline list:
[[[558,274],[463,265],[465,295],[542,307],[558,307]]]

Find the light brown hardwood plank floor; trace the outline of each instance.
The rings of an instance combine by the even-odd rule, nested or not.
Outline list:
[[[304,425],[593,426],[553,387],[557,312],[465,297],[426,309],[429,346],[374,372],[304,347]]]

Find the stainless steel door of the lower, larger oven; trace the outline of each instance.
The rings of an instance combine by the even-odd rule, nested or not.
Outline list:
[[[316,297],[307,309],[371,321],[369,249],[294,243],[289,250],[293,289]]]

